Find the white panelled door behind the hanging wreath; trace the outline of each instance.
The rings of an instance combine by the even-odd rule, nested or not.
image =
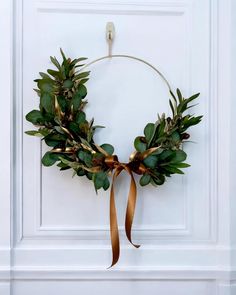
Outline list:
[[[12,295],[234,292],[234,278],[229,279],[227,181],[232,140],[227,120],[229,4],[217,0],[14,1],[12,242],[11,272],[5,278]],[[40,159],[48,147],[24,134],[32,129],[24,116],[38,107],[33,80],[38,72],[52,68],[49,56],[60,58],[60,47],[71,58],[92,61],[106,55],[109,21],[115,25],[113,53],[150,62],[173,90],[180,88],[186,97],[200,92],[194,112],[204,118],[191,130],[194,143],[185,146],[191,164],[185,175],[175,175],[158,188],[138,187],[132,232],[139,249],[125,238],[129,177],[125,172],[119,177],[121,254],[118,264],[107,270],[111,263],[109,191],[96,195],[85,178],[72,178],[70,171],[60,172],[56,166],[42,167]],[[87,115],[106,126],[96,141],[113,144],[120,161],[127,162],[133,140],[146,123],[154,122],[158,113],[170,113],[168,89],[138,61],[105,60],[90,70]],[[2,274],[2,290],[8,290]],[[1,284],[0,294],[9,294],[1,293]]]

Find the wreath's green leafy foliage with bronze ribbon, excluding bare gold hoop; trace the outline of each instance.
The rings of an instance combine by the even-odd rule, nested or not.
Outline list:
[[[94,125],[94,119],[87,120],[84,111],[87,101],[89,71],[83,71],[86,58],[67,58],[62,50],[62,62],[56,57],[50,57],[56,67],[40,72],[40,78],[34,80],[40,97],[39,109],[26,115],[37,130],[26,131],[26,134],[40,136],[51,150],[42,157],[44,166],[57,164],[60,170],[72,169],[74,175],[85,176],[94,184],[96,192],[99,189],[110,190],[110,234],[113,266],[119,259],[119,232],[114,198],[114,182],[124,170],[130,177],[125,231],[130,243],[131,228],[136,202],[136,183],[133,173],[140,175],[141,186],[164,184],[172,174],[183,174],[182,169],[190,165],[183,151],[183,143],[190,135],[189,127],[198,124],[202,116],[186,113],[193,107],[191,103],[199,93],[184,98],[177,89],[176,94],[170,91],[169,105],[171,116],[158,115],[155,123],[148,123],[144,134],[134,140],[135,151],[128,163],[119,162],[111,144],[96,144],[94,133],[103,126]],[[112,178],[112,179],[111,179]]]

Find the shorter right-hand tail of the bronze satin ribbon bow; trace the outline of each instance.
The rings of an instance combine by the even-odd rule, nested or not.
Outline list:
[[[126,216],[125,216],[125,233],[129,242],[135,248],[139,248],[140,245],[134,244],[132,242],[132,237],[131,237],[132,224],[134,219],[134,212],[135,212],[135,205],[136,205],[136,198],[137,198],[137,187],[136,187],[136,183],[135,183],[135,179],[134,179],[132,171],[127,167],[125,169],[131,177],[128,203],[127,203]]]

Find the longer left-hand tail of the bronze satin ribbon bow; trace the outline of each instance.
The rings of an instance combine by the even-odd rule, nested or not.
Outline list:
[[[111,268],[117,263],[120,257],[120,239],[119,230],[116,214],[115,205],[115,193],[114,193],[114,182],[117,176],[120,174],[121,169],[117,168],[112,177],[112,184],[110,190],[110,235],[111,235],[111,246],[112,246],[112,263],[108,268]]]

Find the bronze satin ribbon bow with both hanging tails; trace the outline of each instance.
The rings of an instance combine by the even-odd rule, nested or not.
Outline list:
[[[126,216],[125,216],[125,233],[129,242],[134,247],[139,248],[140,245],[135,245],[132,242],[132,238],[131,238],[131,229],[132,229],[134,212],[135,212],[137,188],[136,188],[135,179],[134,179],[132,170],[129,166],[129,163],[128,164],[120,163],[118,161],[117,156],[106,157],[105,163],[110,169],[115,169],[113,173],[113,177],[112,177],[112,184],[111,184],[111,191],[110,191],[110,235],[111,235],[111,245],[112,245],[112,263],[110,267],[112,267],[113,265],[117,263],[120,256],[120,239],[119,239],[119,230],[118,230],[116,205],[115,205],[115,192],[114,192],[115,180],[123,170],[125,170],[130,175],[130,189],[129,189],[129,195],[128,195],[127,208],[126,208]]]

